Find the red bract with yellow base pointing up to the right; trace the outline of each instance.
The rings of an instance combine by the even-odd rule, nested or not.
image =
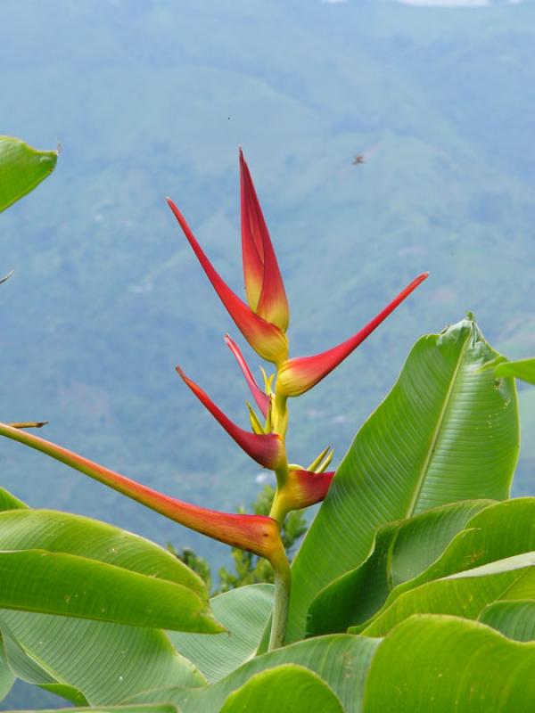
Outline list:
[[[399,292],[399,295],[395,299],[392,299],[387,307],[384,307],[382,312],[375,316],[369,324],[366,324],[364,329],[354,334],[349,340],[339,344],[338,347],[324,351],[322,354],[317,354],[316,356],[300,356],[295,359],[288,359],[284,362],[277,376],[276,392],[283,396],[292,397],[300,396],[300,394],[304,394],[305,391],[312,389],[318,381],[321,381],[328,373],[331,373],[346,356],[349,356],[367,336],[374,332],[374,329],[378,327],[413,290],[416,290],[416,287],[423,283],[428,275],[429,273],[424,273],[416,277],[412,283],[407,285],[405,290]]]

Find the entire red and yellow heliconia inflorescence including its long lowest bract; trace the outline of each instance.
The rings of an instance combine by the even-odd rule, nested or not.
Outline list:
[[[258,414],[248,404],[251,430],[245,430],[232,422],[179,367],[177,372],[238,446],[262,467],[275,471],[276,495],[269,517],[217,512],[166,496],[66,448],[15,427],[24,424],[0,424],[0,435],[36,448],[188,528],[266,557],[272,563],[276,574],[278,572],[279,578],[284,578],[284,586],[289,590],[288,562],[280,537],[284,518],[291,510],[324,500],[333,481],[334,471],[326,470],[333,458],[333,450],[330,447],[317,455],[308,468],[288,463],[285,446],[288,397],[300,396],[332,372],[424,281],[427,273],[416,277],[363,329],[342,344],[316,356],[289,358],[286,336],[290,324],[288,299],[251,173],[241,151],[240,195],[246,302],[218,275],[186,223],[185,217],[173,201],[168,199],[168,202],[210,283],[243,337],[259,356],[276,367],[276,372],[269,377],[262,370],[264,383],[260,387],[240,348],[226,335],[226,344],[235,356],[259,411]]]

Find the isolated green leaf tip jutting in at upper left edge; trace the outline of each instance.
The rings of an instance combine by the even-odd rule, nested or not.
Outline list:
[[[0,213],[50,176],[57,151],[37,151],[12,136],[0,136]]]

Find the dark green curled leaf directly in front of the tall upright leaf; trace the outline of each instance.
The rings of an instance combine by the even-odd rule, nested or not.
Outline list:
[[[426,570],[473,514],[493,502],[468,500],[441,505],[410,520],[385,525],[360,567],[317,594],[309,609],[307,635],[346,631],[370,619],[393,586]]]

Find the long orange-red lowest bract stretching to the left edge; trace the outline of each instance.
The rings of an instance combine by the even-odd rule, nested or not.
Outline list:
[[[284,562],[284,547],[281,543],[276,520],[263,515],[241,515],[209,510],[199,505],[185,503],[175,497],[166,496],[153,488],[120,475],[103,465],[94,463],[56,444],[39,438],[25,430],[15,429],[0,423],[0,435],[12,438],[41,453],[50,455],[90,478],[98,480],[109,488],[117,490],[137,503],[150,507],[155,512],[185,525],[186,528],[201,532],[219,542],[233,547],[241,547],[261,557],[266,557],[274,566]]]

